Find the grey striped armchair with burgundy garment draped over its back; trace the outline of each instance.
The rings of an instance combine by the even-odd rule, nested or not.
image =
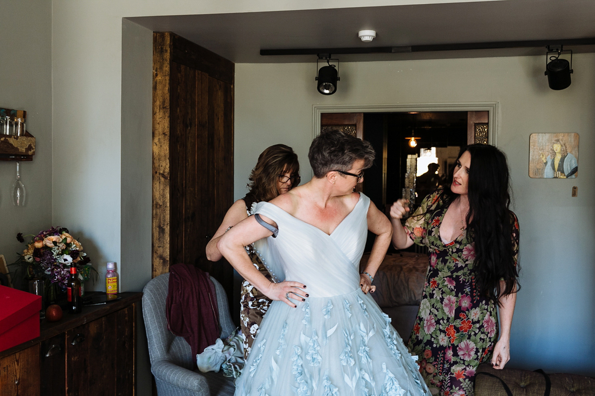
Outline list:
[[[151,359],[151,372],[155,376],[159,396],[225,396],[233,395],[233,378],[223,372],[201,373],[193,371],[196,359],[190,356],[190,346],[183,337],[167,330],[165,299],[170,274],[159,275],[143,289],[143,318]],[[227,296],[223,286],[211,277],[217,292],[220,337],[227,337],[234,330]]]

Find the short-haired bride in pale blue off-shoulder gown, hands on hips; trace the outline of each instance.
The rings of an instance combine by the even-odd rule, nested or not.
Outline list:
[[[273,300],[236,380],[236,396],[429,396],[414,357],[369,295],[392,236],[386,216],[352,192],[374,150],[329,131],[315,138],[308,157],[312,180],[260,202],[254,216],[217,244]],[[359,274],[368,230],[376,239]],[[262,238],[256,249],[274,282],[244,249]]]

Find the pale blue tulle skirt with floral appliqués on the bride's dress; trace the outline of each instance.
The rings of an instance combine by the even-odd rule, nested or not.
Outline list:
[[[430,395],[390,318],[361,289],[274,301],[261,323],[236,396]]]

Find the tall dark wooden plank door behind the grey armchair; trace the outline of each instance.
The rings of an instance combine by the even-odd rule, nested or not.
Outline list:
[[[154,33],[152,275],[197,265],[231,301],[233,268],[206,243],[233,204],[234,64],[173,33]]]

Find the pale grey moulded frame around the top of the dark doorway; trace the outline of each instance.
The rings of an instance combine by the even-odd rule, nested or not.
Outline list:
[[[407,113],[407,112],[488,112],[488,144],[497,146],[500,131],[499,102],[399,103],[399,104],[314,104],[312,140],[320,134],[321,113]]]

